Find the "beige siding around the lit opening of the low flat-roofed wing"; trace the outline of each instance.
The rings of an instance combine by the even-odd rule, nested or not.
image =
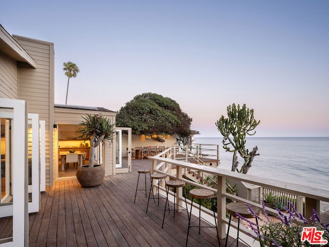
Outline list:
[[[57,125],[79,125],[79,123],[83,120],[82,116],[86,114],[102,114],[111,120],[111,122],[115,122],[116,113],[115,112],[100,112],[100,111],[92,111],[92,110],[79,110],[79,109],[65,109],[65,108],[54,108],[54,117],[55,124]],[[105,142],[104,149],[104,168],[105,175],[114,175],[115,174],[115,140],[113,143]],[[58,147],[55,147],[55,151]],[[56,161],[55,161],[56,162]],[[54,164],[57,165],[58,164]]]

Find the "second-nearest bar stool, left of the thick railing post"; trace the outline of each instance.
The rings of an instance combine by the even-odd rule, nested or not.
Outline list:
[[[209,189],[191,189],[190,190],[190,196],[192,197],[192,200],[191,200],[191,210],[190,210],[190,217],[189,217],[189,226],[188,226],[187,237],[186,237],[186,246],[187,246],[188,239],[189,239],[190,227],[199,227],[199,234],[200,234],[200,227],[215,227],[216,228],[216,233],[217,233],[218,244],[221,246],[220,237],[218,236],[217,220],[216,220],[214,200],[213,200],[214,197],[215,197],[214,192],[212,192]],[[199,225],[198,226],[196,226],[196,225],[193,226],[192,225],[197,219],[193,223],[191,223],[193,198],[199,199],[199,217],[197,218],[197,219],[199,219]],[[212,208],[213,213],[214,213],[215,225],[211,224],[206,219],[201,218],[201,200],[202,199],[211,199],[211,208]],[[207,221],[212,226],[200,226],[201,219]]]

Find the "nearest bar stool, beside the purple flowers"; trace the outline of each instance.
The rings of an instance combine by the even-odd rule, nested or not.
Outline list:
[[[254,211],[255,214],[257,214],[257,215],[260,214],[260,209],[258,207],[256,207],[256,206],[250,206],[250,208]],[[231,202],[231,203],[228,203],[226,205],[226,209],[227,209],[228,213],[230,214],[230,220],[228,222],[225,247],[227,246],[227,240],[228,240],[228,236],[229,236],[228,234],[229,234],[229,231],[230,231],[230,225],[231,225],[232,215],[234,217],[237,217],[236,214],[239,214],[242,217],[247,218],[247,219],[255,218],[256,219],[256,224],[257,224],[257,229],[258,229],[258,232],[259,232],[259,226],[258,226],[257,217],[254,217],[254,215],[251,213],[251,211],[250,211],[249,207],[246,205],[246,203],[244,203],[244,202]],[[239,245],[239,239],[241,241],[243,241],[241,238],[239,238],[239,230],[240,230],[240,217],[238,217],[238,220],[237,220],[237,237],[231,243],[231,245],[232,245],[235,242],[235,240],[236,240],[236,247]],[[246,243],[246,242],[244,242],[244,243]],[[261,247],[262,247],[262,243],[260,243],[260,244],[261,244]]]

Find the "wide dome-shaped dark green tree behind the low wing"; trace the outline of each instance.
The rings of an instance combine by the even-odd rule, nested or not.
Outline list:
[[[116,126],[131,127],[133,134],[177,134],[189,136],[192,118],[179,104],[154,93],[135,96],[117,112]]]

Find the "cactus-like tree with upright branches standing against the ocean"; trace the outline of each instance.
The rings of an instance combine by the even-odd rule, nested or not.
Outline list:
[[[227,115],[227,118],[222,115],[216,122],[218,131],[224,136],[223,148],[228,152],[233,152],[232,171],[247,173],[254,156],[259,155],[259,153],[257,153],[257,146],[251,152],[246,149],[246,135],[254,135],[256,133],[254,129],[260,121],[253,118],[253,109],[249,110],[246,104],[242,108],[239,104],[237,107],[234,103],[232,106],[229,105]],[[244,164],[240,170],[237,168],[239,165],[237,153],[244,159]]]

